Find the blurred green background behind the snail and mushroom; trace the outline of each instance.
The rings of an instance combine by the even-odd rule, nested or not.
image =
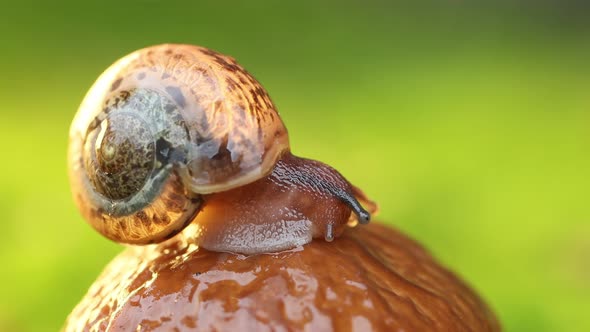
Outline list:
[[[507,331],[590,331],[590,7],[579,1],[0,5],[0,330],[55,331],[121,246],[79,217],[71,118],[114,60],[236,57],[327,162]]]

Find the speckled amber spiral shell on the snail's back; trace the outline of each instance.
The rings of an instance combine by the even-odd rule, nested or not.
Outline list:
[[[298,163],[275,106],[248,72],[231,57],[172,44],[133,52],[98,78],[73,120],[68,158],[73,196],[84,218],[107,238],[131,244],[170,238],[193,222],[207,202],[215,206],[220,201],[216,193],[237,197],[231,194],[237,188],[280,171],[275,167],[280,160]],[[270,185],[293,185],[281,181]],[[344,206],[357,204],[359,212],[355,196],[364,196],[342,181],[348,198],[340,195],[341,201],[352,199]],[[322,193],[327,188],[312,187]],[[269,192],[262,188],[254,190],[260,197]],[[293,204],[305,210],[309,201]],[[329,221],[329,227],[348,220],[351,208],[346,209],[340,213],[345,218]],[[368,220],[364,213],[361,219]],[[220,225],[211,227],[220,229],[216,237],[231,232]],[[330,239],[333,229],[328,232]]]

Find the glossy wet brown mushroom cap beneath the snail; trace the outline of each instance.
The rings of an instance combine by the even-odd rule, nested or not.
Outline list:
[[[117,256],[65,331],[499,331],[486,304],[399,231],[245,256],[177,236]]]

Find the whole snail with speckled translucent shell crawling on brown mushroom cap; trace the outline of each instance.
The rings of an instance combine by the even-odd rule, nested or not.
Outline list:
[[[206,249],[261,253],[331,241],[376,211],[338,171],[291,153],[269,95],[233,58],[192,45],[111,65],[74,117],[68,167],[83,217],[120,243],[190,224]]]

